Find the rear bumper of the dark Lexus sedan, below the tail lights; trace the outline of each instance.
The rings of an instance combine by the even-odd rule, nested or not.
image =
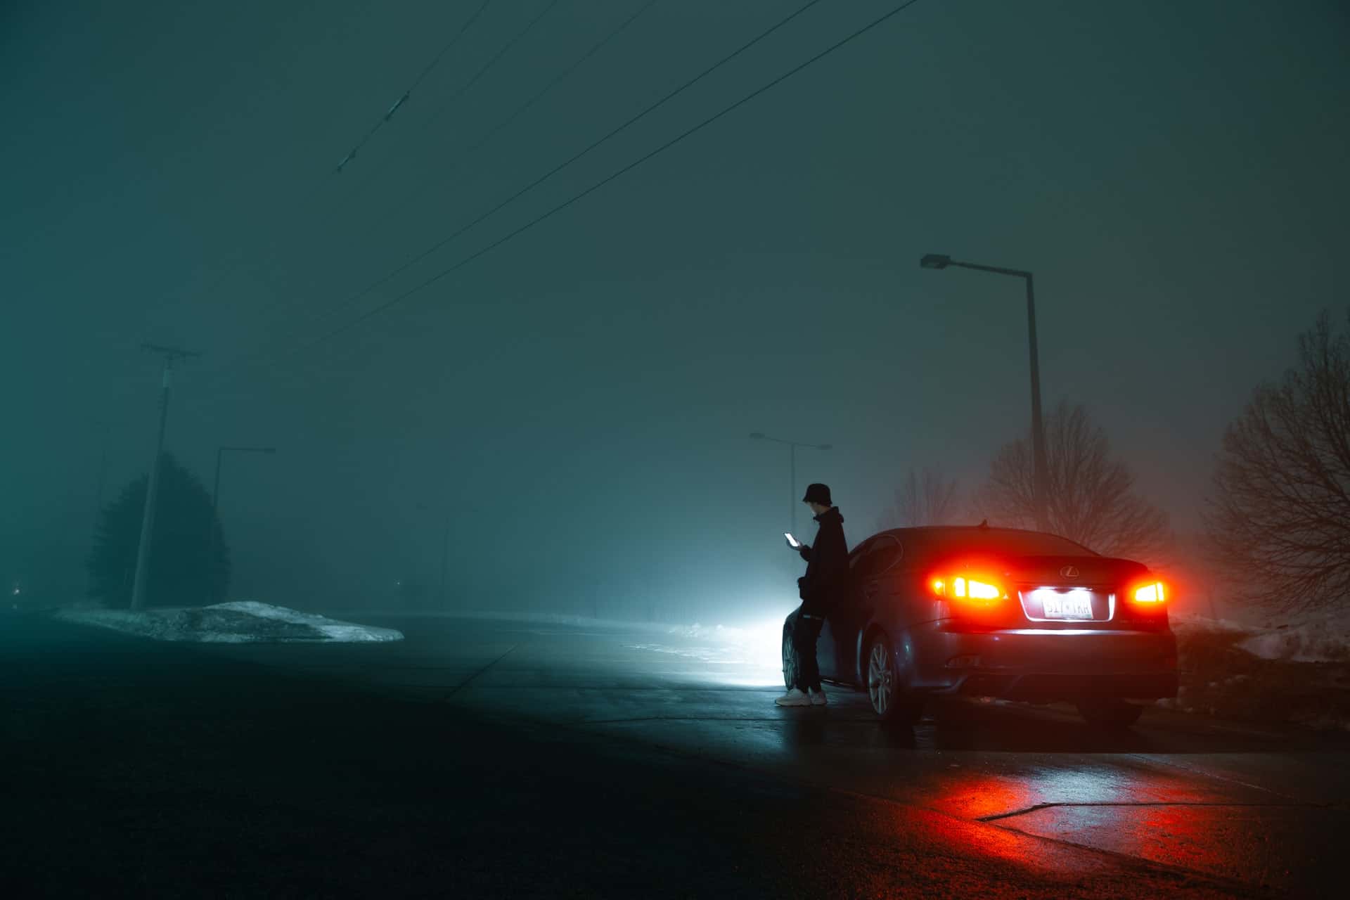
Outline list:
[[[1164,631],[963,631],[950,619],[911,627],[896,669],[915,692],[1075,700],[1177,694],[1176,637]]]

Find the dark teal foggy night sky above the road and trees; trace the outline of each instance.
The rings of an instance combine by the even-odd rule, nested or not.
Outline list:
[[[857,541],[914,466],[967,487],[1088,405],[1181,530],[1223,428],[1347,300],[1335,0],[919,0],[671,150],[346,328],[896,5],[824,0],[576,165],[354,296],[788,15],[495,0],[0,9],[0,573],[84,591],[112,499],[221,444],[232,595],[716,621],[795,603],[790,501]],[[456,97],[456,92],[460,92]],[[830,443],[787,451],[753,430]],[[806,536],[805,509],[798,528]],[[598,602],[593,602],[598,598]]]

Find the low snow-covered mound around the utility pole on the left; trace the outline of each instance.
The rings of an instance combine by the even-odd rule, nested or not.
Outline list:
[[[401,641],[394,629],[339,622],[313,613],[254,600],[192,609],[62,610],[57,618],[157,641],[202,644],[294,644]]]

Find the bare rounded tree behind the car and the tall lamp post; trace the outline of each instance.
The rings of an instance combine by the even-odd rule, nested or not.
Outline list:
[[[1107,556],[1158,563],[1170,549],[1166,513],[1134,493],[1134,474],[1111,459],[1106,433],[1081,405],[1060,401],[1045,418],[1049,529]],[[1035,468],[1026,439],[1004,444],[975,498],[995,525],[1035,528]]]

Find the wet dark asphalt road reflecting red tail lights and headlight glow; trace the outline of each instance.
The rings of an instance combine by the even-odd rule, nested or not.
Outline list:
[[[346,618],[358,618],[347,615]],[[1150,711],[780,710],[772,634],[7,617],[5,896],[1341,896],[1350,742]],[[15,893],[12,888],[20,888]]]

